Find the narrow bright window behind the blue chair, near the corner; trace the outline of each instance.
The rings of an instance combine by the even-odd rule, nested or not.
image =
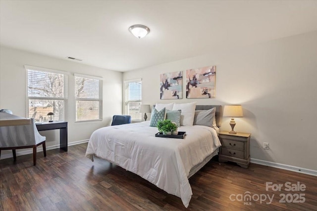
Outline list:
[[[124,91],[124,115],[130,115],[134,121],[141,121],[142,80],[124,81]]]

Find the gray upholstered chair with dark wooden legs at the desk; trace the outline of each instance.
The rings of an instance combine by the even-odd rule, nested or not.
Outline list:
[[[36,165],[37,146],[43,145],[46,157],[46,137],[42,136],[36,128],[34,119],[30,125],[0,127],[0,155],[1,150],[12,150],[13,160],[16,160],[17,149],[33,148],[33,165]]]

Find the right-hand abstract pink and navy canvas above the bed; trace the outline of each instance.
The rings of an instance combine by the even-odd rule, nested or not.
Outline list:
[[[214,98],[216,66],[186,70],[186,98]]]

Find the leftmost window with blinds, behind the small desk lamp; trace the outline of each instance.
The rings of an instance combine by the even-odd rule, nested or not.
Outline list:
[[[67,119],[67,73],[46,68],[24,66],[27,71],[27,117],[36,122]]]

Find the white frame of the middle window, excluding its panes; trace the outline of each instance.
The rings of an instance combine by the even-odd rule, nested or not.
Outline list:
[[[99,98],[84,98],[84,97],[76,97],[75,94],[75,84],[76,84],[76,77],[79,78],[86,78],[86,79],[93,79],[93,80],[99,80]],[[89,76],[89,75],[83,75],[83,74],[77,74],[74,73],[74,99],[75,99],[75,123],[86,123],[86,122],[101,122],[103,121],[103,78],[102,77],[97,77],[97,76]],[[94,119],[94,120],[77,120],[77,106],[76,106],[76,102],[77,101],[99,101],[99,115],[98,115],[98,119]]]

